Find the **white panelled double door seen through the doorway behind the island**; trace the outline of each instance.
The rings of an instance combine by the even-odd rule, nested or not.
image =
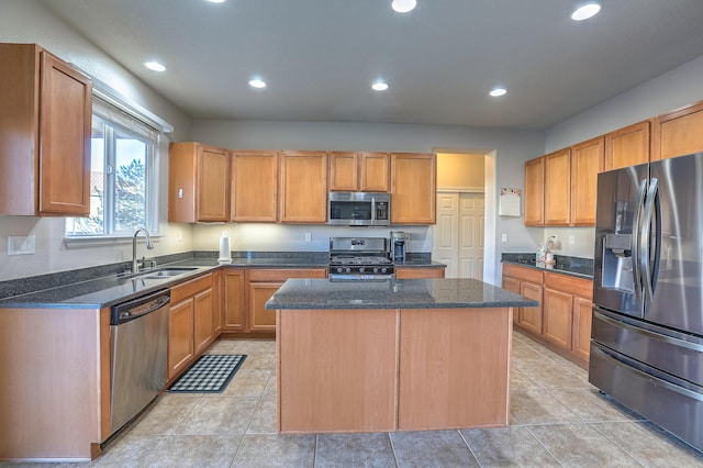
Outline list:
[[[446,278],[483,280],[483,193],[437,193],[432,259],[447,266]]]

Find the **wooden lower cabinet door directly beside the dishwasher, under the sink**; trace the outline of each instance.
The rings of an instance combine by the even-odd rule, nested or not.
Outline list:
[[[194,356],[192,298],[172,304],[168,321],[168,380],[183,370]]]

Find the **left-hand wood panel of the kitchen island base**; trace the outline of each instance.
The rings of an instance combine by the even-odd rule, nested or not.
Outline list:
[[[278,314],[278,431],[395,426],[398,310]]]

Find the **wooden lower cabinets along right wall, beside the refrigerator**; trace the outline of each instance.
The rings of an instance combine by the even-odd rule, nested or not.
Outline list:
[[[593,281],[535,268],[503,265],[503,288],[540,302],[521,308],[513,323],[584,365],[589,360]]]

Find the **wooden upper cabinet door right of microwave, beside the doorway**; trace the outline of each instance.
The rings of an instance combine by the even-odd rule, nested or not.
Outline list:
[[[435,224],[437,159],[434,154],[391,155],[391,223]]]

